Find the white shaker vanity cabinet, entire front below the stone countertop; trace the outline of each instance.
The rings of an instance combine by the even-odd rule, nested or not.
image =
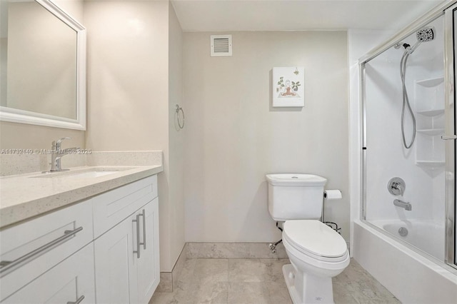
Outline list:
[[[149,176],[0,231],[0,303],[148,303],[159,284]]]

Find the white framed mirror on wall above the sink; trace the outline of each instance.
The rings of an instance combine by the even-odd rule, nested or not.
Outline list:
[[[86,130],[86,29],[49,0],[1,0],[0,120]]]

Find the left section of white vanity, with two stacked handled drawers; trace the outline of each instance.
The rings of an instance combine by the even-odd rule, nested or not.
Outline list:
[[[67,303],[84,293],[89,303],[95,298],[94,257],[86,249],[92,240],[90,202],[1,230],[0,302],[55,303],[56,295]],[[69,267],[71,260],[81,268]]]

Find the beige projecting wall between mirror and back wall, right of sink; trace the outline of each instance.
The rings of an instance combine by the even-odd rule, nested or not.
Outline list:
[[[181,28],[169,1],[88,1],[87,148],[164,151],[159,174],[161,271],[184,246],[181,134]]]

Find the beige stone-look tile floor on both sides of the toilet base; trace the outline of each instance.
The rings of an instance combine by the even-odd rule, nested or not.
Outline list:
[[[154,293],[154,304],[292,303],[282,266],[288,259],[194,258],[186,260],[173,293]],[[400,303],[355,260],[333,278],[340,303]]]

